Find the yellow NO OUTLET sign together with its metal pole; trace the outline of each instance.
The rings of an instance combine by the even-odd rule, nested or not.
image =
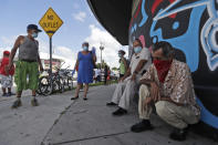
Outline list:
[[[52,8],[49,8],[49,10],[41,18],[39,24],[42,27],[44,32],[50,38],[50,76],[51,76],[52,75],[52,35],[63,24],[63,21]],[[52,90],[52,80],[50,80],[50,83],[51,83],[51,90]]]

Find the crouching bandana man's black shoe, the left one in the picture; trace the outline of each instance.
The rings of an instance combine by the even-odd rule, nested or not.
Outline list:
[[[152,126],[148,120],[143,120],[141,123],[137,123],[131,127],[131,131],[134,133],[141,133],[144,131],[150,131],[154,127]]]

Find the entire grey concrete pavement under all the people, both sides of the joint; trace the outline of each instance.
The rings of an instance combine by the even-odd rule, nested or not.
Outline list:
[[[0,145],[217,145],[189,133],[187,141],[170,141],[170,126],[152,116],[154,131],[132,133],[138,122],[137,107],[122,117],[112,116],[116,107],[107,107],[115,85],[95,86],[89,100],[72,102],[73,92],[38,97],[40,106],[30,105],[30,92],[22,97],[23,106],[11,110],[15,97],[0,97]],[[80,96],[82,96],[82,93]]]

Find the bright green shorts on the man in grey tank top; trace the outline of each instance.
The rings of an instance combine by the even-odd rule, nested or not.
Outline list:
[[[38,62],[18,61],[15,64],[14,81],[17,91],[38,90],[39,64]]]

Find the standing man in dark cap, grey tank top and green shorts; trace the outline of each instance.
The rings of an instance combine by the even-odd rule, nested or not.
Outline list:
[[[11,69],[13,64],[13,58],[19,50],[18,62],[15,64],[15,84],[17,84],[17,101],[13,103],[12,108],[17,108],[22,105],[21,94],[23,90],[32,90],[32,106],[38,106],[38,101],[35,99],[35,91],[38,90],[39,80],[39,66],[40,71],[43,71],[42,63],[39,55],[39,42],[35,40],[38,33],[41,30],[38,29],[35,24],[29,24],[28,35],[20,35],[15,40],[15,43],[11,50],[9,58],[8,70]]]

